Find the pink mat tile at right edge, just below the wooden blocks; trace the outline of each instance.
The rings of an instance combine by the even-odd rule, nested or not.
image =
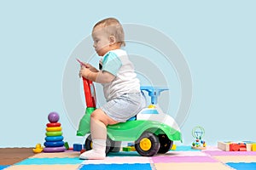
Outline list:
[[[209,156],[256,156],[256,151],[205,150]]]

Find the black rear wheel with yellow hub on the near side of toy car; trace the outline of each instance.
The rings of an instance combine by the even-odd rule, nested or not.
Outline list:
[[[145,132],[135,141],[135,148],[141,156],[154,156],[160,149],[160,143],[154,133]]]

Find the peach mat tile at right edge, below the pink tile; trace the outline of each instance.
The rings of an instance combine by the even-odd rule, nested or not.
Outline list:
[[[256,162],[256,156],[213,156],[221,162]]]

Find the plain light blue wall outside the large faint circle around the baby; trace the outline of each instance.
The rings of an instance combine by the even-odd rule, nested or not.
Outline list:
[[[111,2],[111,3],[110,3]],[[184,144],[202,126],[208,144],[254,140],[255,5],[253,1],[1,1],[0,147],[44,143],[50,111],[70,144],[82,142],[61,94],[69,55],[98,20],[152,26],[176,42],[193,78]]]

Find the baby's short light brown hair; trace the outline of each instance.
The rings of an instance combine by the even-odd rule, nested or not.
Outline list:
[[[119,23],[119,20],[115,18],[100,20],[93,27],[93,30],[96,26],[107,28],[106,30],[108,31],[109,35],[115,37],[116,41],[120,43],[120,46],[125,46],[125,33],[123,26]]]

